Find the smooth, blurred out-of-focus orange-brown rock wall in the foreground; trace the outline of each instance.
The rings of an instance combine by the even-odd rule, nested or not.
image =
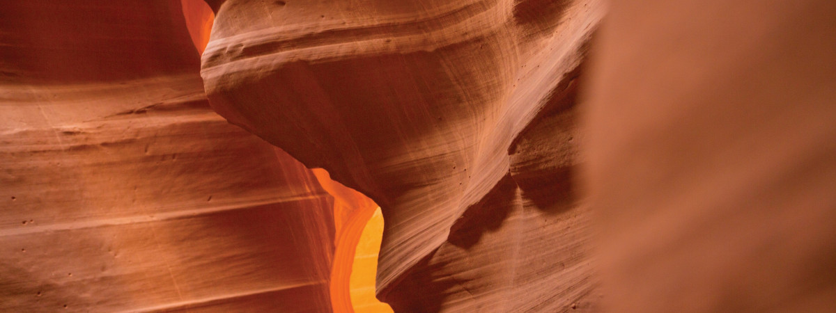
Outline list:
[[[586,177],[614,312],[836,307],[836,3],[612,1]]]

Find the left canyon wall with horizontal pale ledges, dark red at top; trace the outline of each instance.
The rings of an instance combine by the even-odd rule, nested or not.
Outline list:
[[[212,112],[181,8],[0,2],[0,311],[331,310],[334,197]]]

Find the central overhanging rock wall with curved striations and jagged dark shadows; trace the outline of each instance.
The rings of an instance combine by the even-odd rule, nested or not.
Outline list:
[[[598,1],[210,1],[212,108],[380,204],[396,311],[591,308],[574,93]]]

